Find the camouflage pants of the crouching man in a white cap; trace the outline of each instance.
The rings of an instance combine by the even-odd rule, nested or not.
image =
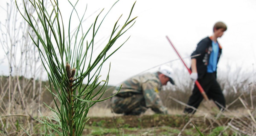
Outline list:
[[[111,108],[114,113],[125,113],[125,115],[140,115],[147,110],[143,94],[133,94],[128,97],[113,96]]]

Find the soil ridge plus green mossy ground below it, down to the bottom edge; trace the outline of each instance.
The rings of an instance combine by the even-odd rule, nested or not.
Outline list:
[[[245,121],[245,124],[250,123],[246,117],[242,120]],[[205,116],[160,114],[91,117],[87,122],[84,134],[91,136],[198,136],[199,130],[205,136],[210,134],[218,136],[220,133],[222,133],[221,136],[236,136],[236,131],[228,125],[230,122],[232,119],[224,116],[218,117],[218,119],[209,119]],[[96,133],[99,128],[100,132]],[[240,128],[240,130],[242,129]]]

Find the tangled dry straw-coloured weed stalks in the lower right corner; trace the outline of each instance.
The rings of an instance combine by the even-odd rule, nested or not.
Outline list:
[[[233,87],[233,88],[236,89],[235,87]],[[253,84],[251,86],[250,93],[253,92],[251,90],[255,90],[255,86]],[[217,126],[226,126],[224,128],[224,130],[221,131],[219,136],[221,136],[221,134],[224,133],[224,131],[227,129],[234,131],[235,133],[239,134],[239,136],[242,136],[242,135],[255,136],[255,134],[256,134],[255,108],[252,106],[253,102],[250,102],[251,106],[248,106],[248,104],[247,104],[248,100],[242,99],[242,96],[244,96],[244,93],[240,94],[240,96],[237,99],[235,99],[233,102],[231,102],[229,105],[227,105],[226,108],[223,107],[224,112],[219,112],[217,114],[214,114],[213,116],[211,114],[207,114],[201,110],[193,108],[200,114],[204,115],[204,120],[202,120],[201,117],[198,118],[196,116],[190,116],[191,121],[199,122],[199,123],[208,121],[209,125],[206,128],[204,128],[203,133],[212,130],[213,128],[216,127],[216,124],[217,124]],[[250,101],[253,101],[252,98],[255,96],[253,96],[253,94],[250,94],[250,96],[251,96]],[[181,105],[189,107],[189,105],[186,105],[185,103],[180,102],[179,100],[177,100],[173,97],[169,97],[169,98],[171,98],[175,102],[180,103]],[[246,98],[246,97],[244,97],[244,98]],[[246,114],[237,115],[236,113],[234,113],[234,110],[233,111],[229,110],[229,108],[238,100],[244,106],[244,110],[247,111]],[[217,102],[217,104],[218,104],[218,102]],[[218,104],[218,105],[220,105],[220,104]],[[231,115],[228,115],[228,113]],[[221,121],[221,119],[223,117],[226,119],[226,121],[224,121],[224,122]],[[180,134],[182,133],[183,130],[185,130],[185,128],[188,124],[190,124],[190,122],[186,123],[186,125],[181,130]]]

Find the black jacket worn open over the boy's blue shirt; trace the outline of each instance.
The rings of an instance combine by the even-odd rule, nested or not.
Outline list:
[[[209,62],[210,54],[212,53],[212,37],[205,37],[200,42],[198,42],[198,45],[195,49],[195,51],[191,54],[191,56],[200,54],[199,56],[192,57],[196,59],[196,67],[198,71],[198,79],[201,79],[204,77],[204,75],[207,73],[207,65]],[[218,41],[217,41],[218,42]],[[222,48],[221,45],[219,45],[219,53],[218,53],[218,59],[217,64],[221,56]],[[215,72],[216,75],[216,72]]]

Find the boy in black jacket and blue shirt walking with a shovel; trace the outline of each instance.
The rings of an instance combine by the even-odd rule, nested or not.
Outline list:
[[[227,26],[223,22],[217,22],[213,26],[213,34],[201,40],[191,56],[200,54],[200,56],[192,57],[190,78],[201,84],[209,99],[218,102],[218,108],[225,108],[225,98],[221,91],[221,87],[216,80],[216,70],[219,58],[221,56],[221,45],[217,39],[221,37],[227,30]],[[195,85],[192,95],[189,97],[188,105],[198,108],[203,96],[198,87]],[[184,113],[195,113],[192,108],[185,108]]]

